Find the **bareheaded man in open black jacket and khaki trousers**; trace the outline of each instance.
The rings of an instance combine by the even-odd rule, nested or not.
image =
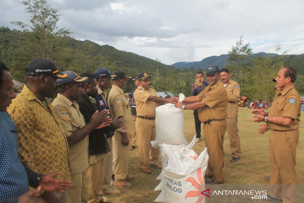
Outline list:
[[[76,102],[79,105],[81,114],[85,118],[85,123],[88,124],[92,115],[96,110],[98,110],[95,100],[90,99],[90,97],[95,98],[96,96],[97,81],[94,75],[90,73],[83,73],[81,74],[81,77],[88,77],[88,80],[81,83],[81,87],[83,88],[82,95],[80,100]],[[102,194],[100,193],[105,173],[104,158],[110,153],[105,133],[122,127],[124,123],[125,121],[123,118],[114,118],[110,126],[100,126],[98,129],[94,129],[91,133],[89,133],[90,166],[88,168],[88,203],[104,202],[102,199]]]

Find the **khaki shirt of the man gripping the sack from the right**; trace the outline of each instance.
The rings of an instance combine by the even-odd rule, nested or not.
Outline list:
[[[222,120],[227,117],[227,92],[223,82],[218,80],[214,85],[208,85],[196,96],[207,106],[199,109],[199,120]]]

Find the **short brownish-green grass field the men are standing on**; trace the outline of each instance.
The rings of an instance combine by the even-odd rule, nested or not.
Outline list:
[[[195,125],[193,111],[184,110],[184,132],[188,142],[195,135]],[[303,112],[302,119],[303,119]],[[268,137],[269,131],[264,135],[258,135],[257,129],[259,123],[250,121],[252,117],[251,110],[247,108],[239,108],[238,111],[238,128],[241,141],[242,156],[238,162],[232,163],[229,138],[225,134],[224,141],[224,181],[225,184],[269,184],[270,181],[264,178],[269,175],[269,153],[268,153]],[[174,126],[169,126],[174,127]],[[304,122],[300,124],[300,138],[297,147],[296,171],[298,183],[304,184]],[[202,138],[204,132],[202,130]],[[193,150],[196,153],[205,149],[205,142],[196,143]],[[161,164],[161,160],[159,160]],[[130,182],[132,188],[120,189],[122,193],[118,196],[106,196],[108,201],[113,203],[128,202],[153,202],[160,192],[155,192],[154,188],[159,184],[159,180],[155,178],[161,173],[161,170],[150,167],[151,174],[142,173],[139,169],[138,149],[131,151],[129,174],[135,175],[136,180]]]

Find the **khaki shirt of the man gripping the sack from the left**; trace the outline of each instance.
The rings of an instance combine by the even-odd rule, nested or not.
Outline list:
[[[157,103],[153,101],[147,101],[149,96],[158,96],[155,89],[150,87],[144,89],[142,86],[138,86],[134,92],[134,98],[136,103],[136,115],[155,118]]]

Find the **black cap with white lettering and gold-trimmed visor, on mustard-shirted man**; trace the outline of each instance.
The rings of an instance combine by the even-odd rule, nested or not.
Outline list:
[[[25,67],[26,75],[52,75],[55,78],[67,78],[67,74],[59,73],[55,64],[46,59],[38,58],[29,62]]]

